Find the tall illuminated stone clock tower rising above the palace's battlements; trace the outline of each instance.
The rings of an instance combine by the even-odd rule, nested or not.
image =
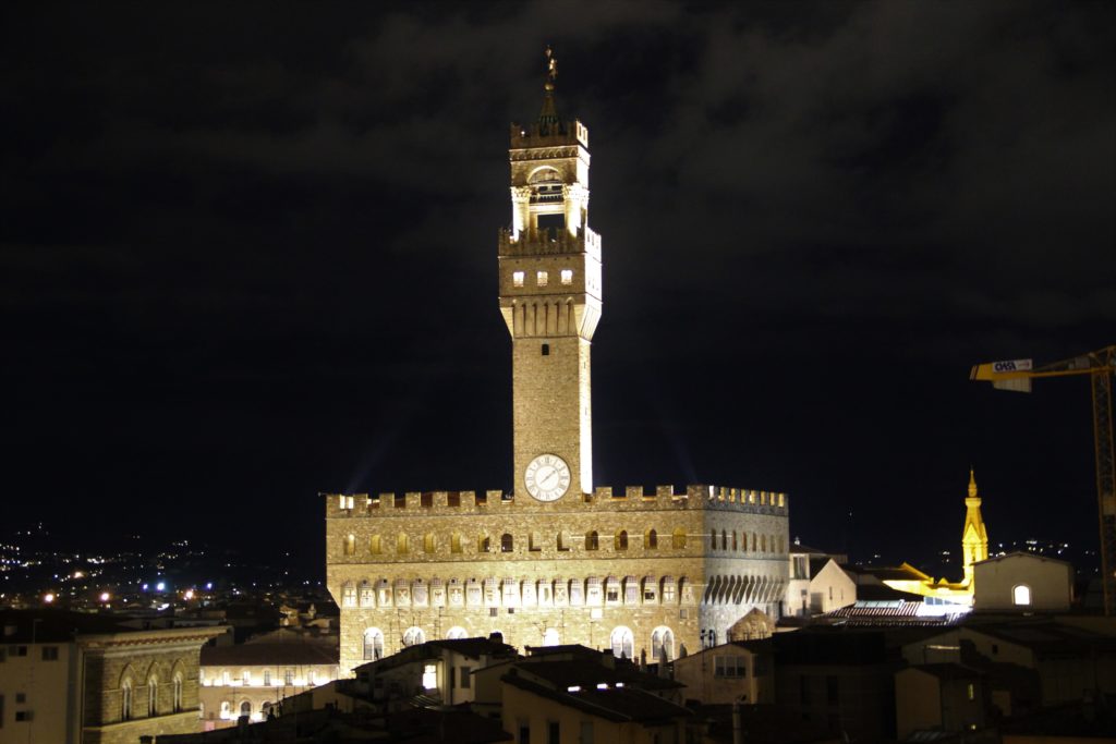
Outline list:
[[[500,311],[511,332],[514,493],[593,492],[589,346],[600,319],[600,236],[589,230],[589,132],[555,107],[511,127],[510,230],[500,232]]]

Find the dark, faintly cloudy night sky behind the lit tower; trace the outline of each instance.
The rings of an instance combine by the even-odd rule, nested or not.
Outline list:
[[[2,524],[323,559],[318,492],[511,489],[508,124],[590,133],[595,481],[854,557],[1096,543],[1110,2],[41,3],[0,18]],[[954,577],[956,578],[956,577]]]

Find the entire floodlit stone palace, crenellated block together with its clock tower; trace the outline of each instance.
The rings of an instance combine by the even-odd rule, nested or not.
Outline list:
[[[589,131],[512,124],[511,225],[497,236],[511,336],[516,486],[326,499],[340,673],[424,640],[502,632],[676,658],[777,618],[789,579],[782,493],[593,484],[590,346],[603,309],[589,228]],[[767,626],[766,622],[759,625]]]

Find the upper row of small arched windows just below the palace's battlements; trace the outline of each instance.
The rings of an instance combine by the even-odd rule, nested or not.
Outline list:
[[[617,530],[612,534],[612,549],[616,552],[626,551],[632,547],[633,542],[637,538],[638,535],[629,535],[627,530]],[[606,537],[605,539],[607,540],[608,538]],[[358,552],[356,535],[349,533],[345,535],[343,540],[343,552],[346,555],[356,555]],[[367,550],[373,555],[383,555],[385,553],[393,552],[398,555],[405,555],[412,552],[412,535],[406,532],[400,532],[394,537],[374,534],[368,539]],[[423,553],[439,552],[439,539],[434,532],[426,532],[422,535],[421,540],[414,542],[416,543],[415,550],[421,550]],[[600,550],[602,542],[600,533],[596,530],[589,530],[585,534],[571,534],[566,530],[561,530],[554,537],[552,540],[543,538],[543,535],[539,532],[531,532],[527,535],[527,551],[539,552],[543,549],[558,550],[559,552],[576,549],[595,551]],[[685,530],[681,528],[674,530],[670,535],[670,547],[674,550],[685,549],[689,535]],[[643,533],[644,550],[658,550],[660,543],[661,541],[657,530],[652,529]],[[451,553],[464,553],[466,551],[466,547],[471,548],[472,544],[465,535],[461,532],[450,533],[449,549]],[[710,550],[750,553],[782,553],[786,549],[786,541],[781,534],[776,535],[747,531],[738,532],[735,530],[721,530],[718,532],[716,530],[713,530],[709,533],[709,547]],[[470,550],[469,552],[473,551]],[[499,537],[482,532],[477,535],[475,552],[516,552],[516,538],[510,532],[504,532]]]

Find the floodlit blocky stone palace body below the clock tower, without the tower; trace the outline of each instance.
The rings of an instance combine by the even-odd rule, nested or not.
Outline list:
[[[502,632],[648,660],[728,638],[788,580],[786,494],[598,487],[566,510],[500,491],[326,497],[343,674],[435,638]]]

